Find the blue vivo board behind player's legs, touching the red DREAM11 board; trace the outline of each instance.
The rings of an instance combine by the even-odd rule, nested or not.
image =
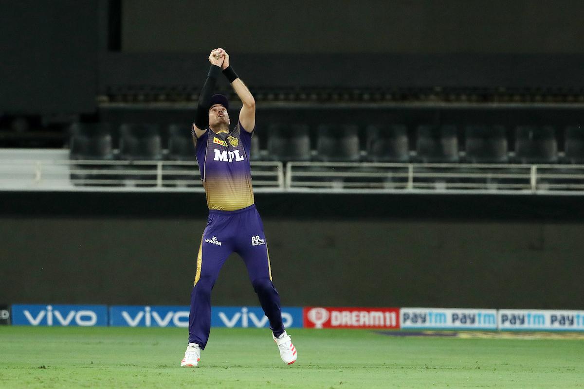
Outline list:
[[[281,307],[284,327],[303,327],[302,308]],[[270,327],[261,307],[211,307],[211,327]]]

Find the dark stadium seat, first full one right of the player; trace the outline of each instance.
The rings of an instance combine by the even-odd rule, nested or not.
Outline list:
[[[272,124],[267,129],[269,159],[282,162],[310,160],[310,138],[305,124]]]

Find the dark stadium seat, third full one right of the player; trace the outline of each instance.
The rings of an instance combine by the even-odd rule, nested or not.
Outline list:
[[[367,160],[370,162],[408,162],[408,129],[405,125],[367,127]]]

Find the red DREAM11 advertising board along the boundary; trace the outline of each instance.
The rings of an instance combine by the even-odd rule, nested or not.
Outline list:
[[[307,328],[399,328],[399,308],[305,307]]]

